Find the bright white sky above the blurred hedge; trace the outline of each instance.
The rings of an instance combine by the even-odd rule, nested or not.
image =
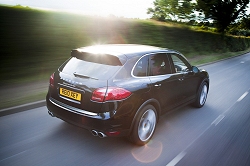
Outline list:
[[[115,15],[127,18],[149,18],[147,8],[154,0],[0,0],[0,4],[67,10],[88,15]]]

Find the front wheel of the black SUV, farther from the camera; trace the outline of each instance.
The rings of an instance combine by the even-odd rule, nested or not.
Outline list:
[[[193,103],[193,105],[197,108],[203,107],[207,100],[207,94],[208,94],[208,84],[206,82],[203,82],[200,85],[196,100]]]

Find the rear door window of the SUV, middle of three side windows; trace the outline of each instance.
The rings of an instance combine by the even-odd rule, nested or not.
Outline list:
[[[166,54],[159,53],[149,56],[150,76],[171,74],[169,59]]]

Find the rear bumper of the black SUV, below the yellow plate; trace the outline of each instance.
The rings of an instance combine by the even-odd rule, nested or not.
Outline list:
[[[48,95],[46,97],[46,104],[50,115],[89,131],[96,130],[103,133],[119,131],[120,134],[117,136],[129,135],[131,120],[128,117],[119,117],[116,119],[114,116],[111,117],[108,115],[110,112],[97,114],[80,110],[65,105]]]

